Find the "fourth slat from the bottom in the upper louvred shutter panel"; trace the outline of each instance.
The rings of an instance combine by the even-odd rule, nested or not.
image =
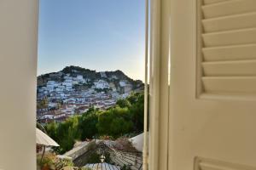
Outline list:
[[[202,37],[205,47],[256,43],[256,28],[207,33]]]

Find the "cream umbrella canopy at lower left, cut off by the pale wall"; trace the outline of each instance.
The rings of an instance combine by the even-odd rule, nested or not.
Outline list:
[[[53,139],[37,128],[37,144],[44,146],[60,146]]]

